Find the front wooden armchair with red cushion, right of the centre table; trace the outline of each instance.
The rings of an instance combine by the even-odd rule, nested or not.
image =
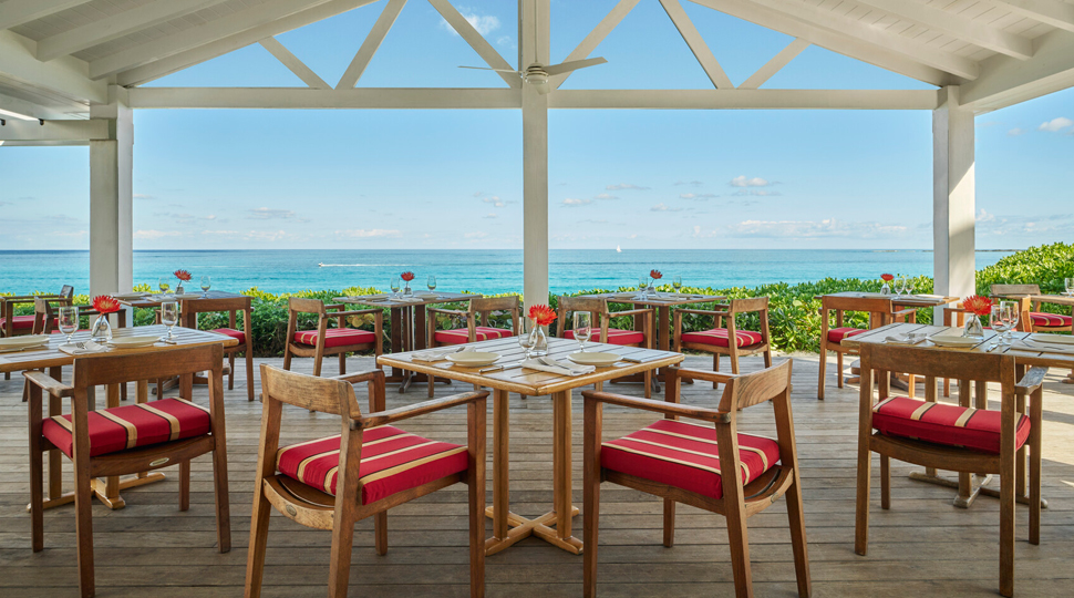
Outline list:
[[[716,409],[679,404],[681,380],[726,386]],[[810,592],[809,557],[802,508],[802,476],[791,414],[791,360],[766,370],[725,375],[669,368],[664,401],[585,391],[585,574],[584,596],[597,595],[600,484],[608,481],[664,499],[663,544],[674,544],[675,503],[727,518],[735,594],[753,596],[746,519],[786,496],[798,596]],[[737,431],[739,410],[772,401],[778,440]],[[663,414],[663,420],[611,442],[602,442],[603,404]],[[703,425],[678,421],[686,417]],[[715,430],[713,430],[715,427]],[[724,472],[742,475],[722,476]]]

